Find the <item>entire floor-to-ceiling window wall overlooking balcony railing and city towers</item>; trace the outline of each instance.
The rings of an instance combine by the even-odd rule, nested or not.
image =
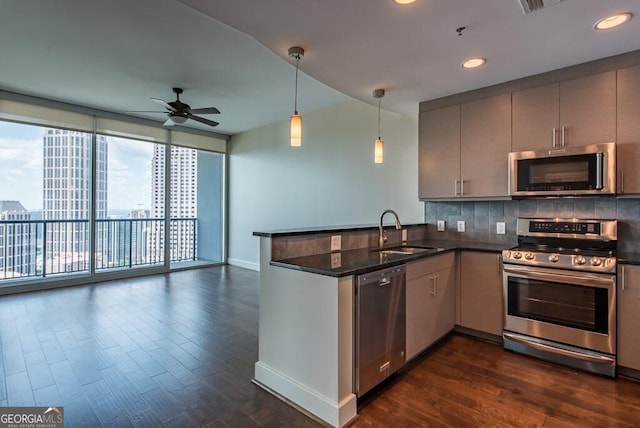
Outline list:
[[[225,139],[51,105],[0,96],[0,288],[225,261]]]

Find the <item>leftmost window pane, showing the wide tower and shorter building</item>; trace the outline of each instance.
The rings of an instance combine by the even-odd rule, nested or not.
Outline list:
[[[0,279],[89,270],[91,141],[0,122]]]

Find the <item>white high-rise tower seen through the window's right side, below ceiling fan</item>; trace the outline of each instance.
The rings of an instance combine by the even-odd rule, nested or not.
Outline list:
[[[164,217],[165,202],[165,146],[157,144],[153,152],[151,214]],[[171,146],[171,189],[169,194],[171,261],[192,260],[196,252],[196,217],[198,212],[198,151]],[[193,220],[190,220],[193,219]],[[152,247],[162,249],[160,230],[152,238]]]

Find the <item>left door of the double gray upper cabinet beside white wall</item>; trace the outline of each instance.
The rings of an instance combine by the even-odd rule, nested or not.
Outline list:
[[[418,126],[420,198],[457,196],[457,183],[460,180],[460,105],[422,112]]]

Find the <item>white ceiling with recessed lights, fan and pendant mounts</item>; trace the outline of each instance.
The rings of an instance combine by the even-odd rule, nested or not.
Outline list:
[[[635,17],[593,30],[620,11]],[[206,116],[216,128],[188,126],[231,135],[291,115],[296,45],[301,114],[349,97],[377,105],[376,88],[383,109],[416,113],[420,101],[640,49],[640,1],[525,15],[519,0],[3,0],[0,89],[123,113],[156,110],[149,98],[172,101],[179,86],[192,108],[221,111]],[[488,63],[462,69],[471,56]]]

